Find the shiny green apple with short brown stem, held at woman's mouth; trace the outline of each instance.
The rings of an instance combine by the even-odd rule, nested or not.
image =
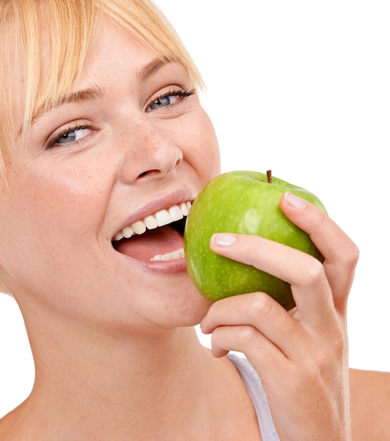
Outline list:
[[[231,171],[214,178],[195,199],[184,231],[188,274],[197,290],[216,302],[246,292],[267,292],[284,308],[295,306],[290,285],[273,275],[215,254],[209,240],[215,232],[258,235],[299,249],[320,261],[321,253],[284,216],[279,199],[286,191],[319,206],[323,204],[307,190],[272,178],[270,171]]]

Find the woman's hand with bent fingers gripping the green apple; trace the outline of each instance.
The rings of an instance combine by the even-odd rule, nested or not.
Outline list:
[[[314,205],[290,193],[280,205],[324,263],[262,237],[214,235],[214,252],[289,282],[296,307],[286,311],[263,292],[228,297],[212,305],[202,331],[212,333],[214,356],[243,352],[259,373],[281,440],[350,440],[346,306],[358,249]]]

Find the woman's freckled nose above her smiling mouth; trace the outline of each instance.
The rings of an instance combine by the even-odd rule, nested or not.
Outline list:
[[[181,161],[183,151],[176,146],[164,130],[143,122],[133,126],[133,134],[123,156],[121,180],[158,179],[174,173]]]

